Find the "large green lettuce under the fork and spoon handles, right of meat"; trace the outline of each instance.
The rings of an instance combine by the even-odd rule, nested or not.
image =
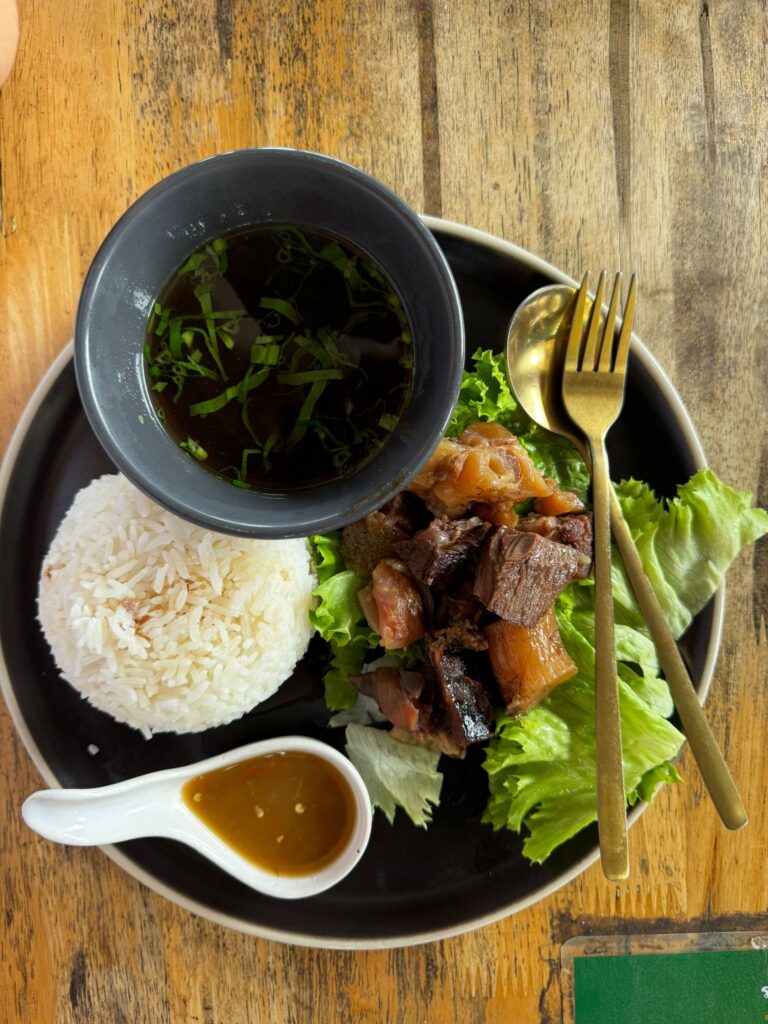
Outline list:
[[[709,470],[699,470],[669,503],[636,480],[621,483],[616,493],[680,636],[740,549],[768,531],[768,513],[751,508],[749,494],[725,486]],[[650,799],[660,782],[679,780],[669,760],[683,736],[667,721],[673,710],[669,689],[657,677],[655,651],[621,563],[612,582],[625,788],[632,804]],[[517,831],[525,824],[523,852],[534,861],[596,818],[592,581],[573,584],[560,596],[557,617],[577,676],[526,716],[500,715],[485,760],[490,797],[484,820]]]

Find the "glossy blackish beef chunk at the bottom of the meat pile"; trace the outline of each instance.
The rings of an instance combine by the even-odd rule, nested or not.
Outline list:
[[[434,703],[430,731],[444,732],[459,748],[487,739],[494,709],[485,687],[473,678],[469,652],[444,631],[427,637],[434,672]]]

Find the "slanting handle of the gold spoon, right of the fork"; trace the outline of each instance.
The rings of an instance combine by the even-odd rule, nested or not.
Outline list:
[[[746,812],[739,799],[728,766],[712,733],[707,716],[698,702],[688,670],[672,635],[667,617],[643,569],[632,534],[622,513],[613,488],[610,488],[610,524],[618,550],[635,592],[640,612],[656,647],[658,660],[675,701],[675,708],[696,760],[705,785],[726,828],[742,828]]]

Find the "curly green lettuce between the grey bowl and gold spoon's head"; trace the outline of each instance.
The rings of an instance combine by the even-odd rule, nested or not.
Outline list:
[[[556,479],[564,490],[584,496],[589,486],[584,460],[569,441],[542,430],[518,406],[507,382],[504,360],[503,353],[487,348],[478,348],[473,354],[473,369],[464,373],[449,435],[460,434],[477,420],[501,423],[519,437],[544,476]]]

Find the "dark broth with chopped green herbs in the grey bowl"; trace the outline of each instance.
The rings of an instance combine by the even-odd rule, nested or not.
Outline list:
[[[179,267],[147,327],[158,416],[190,457],[238,486],[345,476],[394,429],[412,338],[379,267],[330,234],[256,226]]]

